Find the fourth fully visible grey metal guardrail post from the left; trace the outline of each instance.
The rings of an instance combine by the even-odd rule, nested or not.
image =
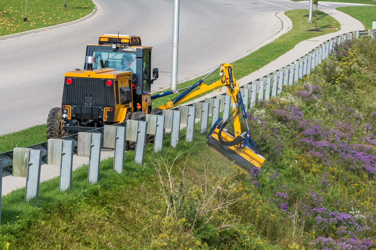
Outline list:
[[[116,137],[115,137],[113,171],[118,172],[119,174],[123,172],[123,168],[124,168],[125,144],[126,144],[126,127],[117,126]]]

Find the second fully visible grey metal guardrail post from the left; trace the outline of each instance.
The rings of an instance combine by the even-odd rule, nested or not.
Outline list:
[[[62,140],[61,166],[59,178],[59,191],[65,192],[72,188],[72,166],[73,166],[74,142]]]

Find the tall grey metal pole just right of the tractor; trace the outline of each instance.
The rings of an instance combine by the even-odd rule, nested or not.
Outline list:
[[[179,54],[179,9],[180,0],[174,0],[172,25],[171,90],[177,90],[177,57]]]

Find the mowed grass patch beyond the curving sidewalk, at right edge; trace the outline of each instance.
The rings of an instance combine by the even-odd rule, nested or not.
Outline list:
[[[376,21],[376,6],[338,7],[336,10],[342,11],[359,20],[366,30],[371,29],[372,22]]]

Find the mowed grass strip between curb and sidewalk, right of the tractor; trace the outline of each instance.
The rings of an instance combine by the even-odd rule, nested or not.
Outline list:
[[[237,61],[234,61],[230,64],[233,66],[233,74],[236,79],[240,79],[250,73],[254,72],[255,70],[260,69],[261,67],[265,66],[266,64],[270,63],[271,61],[277,59],[281,55],[285,54],[290,49],[293,49],[295,45],[303,40],[321,36],[324,34],[332,33],[337,30],[335,28],[340,28],[340,24],[332,18],[331,16],[327,15],[326,13],[318,10],[317,11],[317,27],[320,28],[334,28],[334,29],[320,29],[320,31],[307,31],[312,29],[315,26],[314,23],[308,23],[308,10],[303,9],[296,9],[296,10],[288,10],[285,12],[291,21],[293,22],[293,28],[288,31],[287,33],[283,34],[282,36],[278,37],[271,43],[263,46],[262,48],[258,49],[255,52],[243,57]],[[218,62],[218,65],[221,62]],[[289,62],[286,62],[289,63]],[[276,70],[276,69],[275,69]],[[195,82],[202,79],[204,76],[197,77],[193,80],[186,81],[183,83],[178,84],[177,88],[184,88],[193,85]],[[218,73],[215,72],[207,79],[205,79],[205,84],[209,84],[211,82],[217,81],[219,79]],[[166,90],[164,90],[166,91]],[[162,91],[161,91],[162,92]],[[160,92],[157,92],[160,93]],[[153,100],[153,108],[156,108],[164,103],[169,102],[178,94],[173,94],[170,96],[161,97],[158,99]]]

